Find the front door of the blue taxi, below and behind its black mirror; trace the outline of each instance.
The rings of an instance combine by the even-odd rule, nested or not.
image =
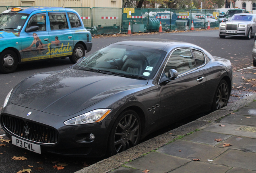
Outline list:
[[[50,58],[50,54],[47,54],[50,39],[45,16],[45,13],[39,13],[29,18],[25,32],[21,35],[22,62]],[[38,26],[38,29],[28,32],[31,26]]]

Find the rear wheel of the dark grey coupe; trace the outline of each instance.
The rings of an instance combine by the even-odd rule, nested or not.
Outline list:
[[[217,109],[221,109],[222,107],[227,106],[229,95],[230,91],[226,80],[221,80],[217,87],[217,90],[215,91],[212,106],[213,111],[216,111]]]

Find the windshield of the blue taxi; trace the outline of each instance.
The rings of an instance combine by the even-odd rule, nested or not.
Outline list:
[[[2,13],[0,14],[0,30],[19,31],[28,18],[28,14]]]

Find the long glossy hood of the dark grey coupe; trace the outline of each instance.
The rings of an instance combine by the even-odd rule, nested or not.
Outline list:
[[[142,87],[147,82],[147,80],[66,69],[53,74],[42,73],[27,78],[18,89],[15,89],[11,103],[54,115],[69,116],[114,93]]]

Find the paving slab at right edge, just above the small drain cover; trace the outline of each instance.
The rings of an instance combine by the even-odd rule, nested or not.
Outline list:
[[[255,126],[256,125],[256,116],[246,116],[246,115],[237,115],[233,113],[231,115],[225,116],[223,119],[217,121],[219,123],[229,123],[229,124],[236,124],[236,125],[248,125],[248,126]]]

